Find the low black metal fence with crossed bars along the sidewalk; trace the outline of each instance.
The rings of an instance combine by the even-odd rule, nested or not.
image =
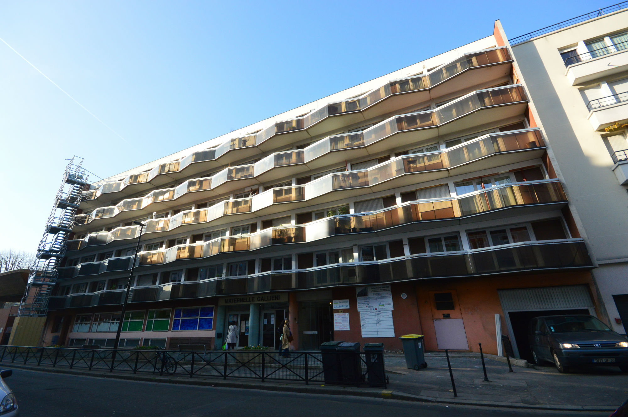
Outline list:
[[[0,363],[386,388],[381,352],[157,351],[0,346]],[[324,356],[324,357],[323,357]]]

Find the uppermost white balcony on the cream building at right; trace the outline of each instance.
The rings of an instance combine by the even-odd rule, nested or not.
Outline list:
[[[628,42],[571,56],[565,61],[566,77],[571,85],[581,85],[596,78],[608,78],[628,70]]]

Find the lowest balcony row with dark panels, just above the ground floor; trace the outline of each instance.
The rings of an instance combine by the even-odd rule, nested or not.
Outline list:
[[[385,261],[339,263],[325,267],[219,277],[131,289],[130,302],[314,290],[340,285],[393,283],[425,278],[474,277],[495,273],[590,269],[581,239],[531,241],[470,251],[425,253]],[[122,304],[125,290],[50,297],[48,308],[70,309]]]

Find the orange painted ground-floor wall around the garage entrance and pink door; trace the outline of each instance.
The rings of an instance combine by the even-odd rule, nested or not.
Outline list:
[[[430,291],[455,289],[458,293],[469,349],[479,352],[482,343],[485,353],[497,354],[495,335],[495,314],[502,317],[502,334],[508,334],[506,318],[499,302],[497,290],[506,288],[556,287],[558,285],[588,285],[593,302],[598,306],[593,281],[589,272],[563,272],[538,275],[502,275],[484,278],[463,278],[418,282],[416,297],[419,305],[425,347],[428,351],[438,351],[434,330],[432,300]],[[597,309],[597,307],[596,307]],[[600,312],[598,311],[598,315]],[[600,315],[600,317],[602,317]],[[512,337],[511,337],[512,339]]]

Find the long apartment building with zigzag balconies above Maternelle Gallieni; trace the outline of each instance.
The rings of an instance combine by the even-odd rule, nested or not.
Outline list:
[[[86,186],[46,346],[291,349],[424,334],[528,357],[543,312],[603,317],[499,22],[485,38]]]

